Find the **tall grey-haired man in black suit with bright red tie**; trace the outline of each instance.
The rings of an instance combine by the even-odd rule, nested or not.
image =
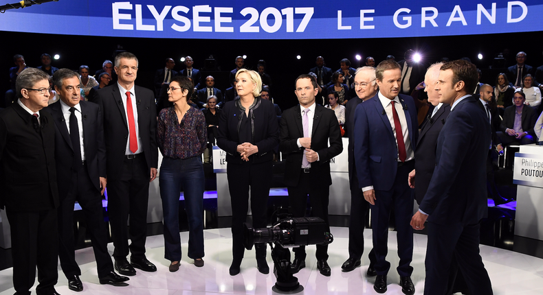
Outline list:
[[[149,182],[157,177],[157,117],[153,91],[134,85],[137,58],[115,56],[118,82],[97,92],[104,118],[107,196],[115,270],[127,276],[134,268],[155,272],[145,257]],[[137,122],[137,124],[135,123]],[[130,232],[126,220],[130,216]],[[131,239],[129,246],[128,239]],[[126,256],[131,252],[131,263]]]

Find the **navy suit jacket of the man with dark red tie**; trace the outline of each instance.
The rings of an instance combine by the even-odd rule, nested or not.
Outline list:
[[[406,116],[411,147],[417,152],[417,108],[412,97],[399,95],[399,99]],[[392,189],[398,168],[398,149],[392,126],[379,100],[379,93],[356,107],[354,129],[354,154],[359,187],[373,185],[374,189],[382,191]]]

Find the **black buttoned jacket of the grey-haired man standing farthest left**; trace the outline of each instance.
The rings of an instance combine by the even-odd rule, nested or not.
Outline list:
[[[58,207],[54,123],[39,112],[41,124],[17,102],[0,113],[0,207],[29,212]]]

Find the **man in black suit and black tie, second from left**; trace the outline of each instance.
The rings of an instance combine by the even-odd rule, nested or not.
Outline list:
[[[120,285],[126,276],[113,272],[107,252],[107,228],[102,215],[106,189],[106,146],[98,104],[80,100],[79,75],[69,69],[53,74],[58,104],[45,108],[55,125],[55,161],[58,176],[58,257],[68,279],[69,290],[82,291],[74,243],[74,204],[80,204],[102,284]],[[124,284],[126,285],[126,284]]]

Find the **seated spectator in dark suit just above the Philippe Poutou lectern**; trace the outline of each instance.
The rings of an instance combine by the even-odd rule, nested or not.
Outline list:
[[[534,143],[534,126],[537,117],[531,106],[524,104],[526,95],[518,89],[513,96],[513,106],[505,109],[500,130],[496,132],[502,145]]]

